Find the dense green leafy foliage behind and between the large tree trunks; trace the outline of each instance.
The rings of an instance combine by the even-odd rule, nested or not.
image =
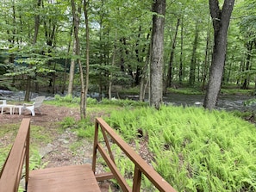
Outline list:
[[[87,1],[86,1],[87,2]],[[79,1],[75,1],[79,5]],[[104,91],[109,83],[147,86],[152,28],[152,1],[88,1],[90,25],[90,88]],[[254,81],[255,1],[235,1],[228,32],[223,84],[244,89]],[[56,93],[66,90],[72,59],[85,65],[85,27],[79,26],[80,54],[72,53],[72,13],[69,1],[3,0],[0,5],[0,87]],[[82,14],[82,13],[81,13]],[[166,1],[164,81],[207,83],[213,46],[209,3]],[[78,68],[74,89],[79,90]],[[170,84],[169,84],[170,83]],[[41,89],[42,90],[42,89]]]

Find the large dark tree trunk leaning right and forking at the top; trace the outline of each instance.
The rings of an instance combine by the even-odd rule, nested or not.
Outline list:
[[[204,108],[215,108],[219,92],[222,85],[222,74],[226,59],[228,26],[234,0],[225,0],[222,9],[219,7],[218,0],[209,0],[210,15],[214,27],[214,50],[212,63],[209,71],[209,84],[204,98]]]

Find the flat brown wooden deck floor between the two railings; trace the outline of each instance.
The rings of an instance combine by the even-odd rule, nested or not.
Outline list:
[[[90,164],[31,170],[28,192],[100,192]]]

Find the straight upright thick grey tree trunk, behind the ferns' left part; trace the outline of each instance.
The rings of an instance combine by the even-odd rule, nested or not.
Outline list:
[[[153,31],[150,65],[150,106],[160,108],[163,101],[163,52],[165,29],[165,0],[153,3]]]

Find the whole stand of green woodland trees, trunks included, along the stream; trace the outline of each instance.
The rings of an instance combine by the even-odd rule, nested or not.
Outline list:
[[[111,98],[113,86],[140,86],[141,101],[152,91],[150,99],[160,94],[156,100],[161,102],[170,87],[199,84],[208,92],[204,107],[214,108],[221,84],[248,89],[256,79],[256,3],[222,2],[3,0],[0,88],[26,90],[25,100],[30,91],[80,92],[85,115],[88,91]],[[216,23],[225,25],[226,32]],[[164,36],[154,45],[154,32],[161,25]],[[227,40],[214,48],[220,42],[216,38],[225,35]],[[215,72],[209,70],[214,63]],[[151,72],[159,66],[163,68],[157,79],[162,81],[152,87]],[[208,83],[214,88],[209,84],[206,89]],[[151,103],[158,108],[159,103]]]

